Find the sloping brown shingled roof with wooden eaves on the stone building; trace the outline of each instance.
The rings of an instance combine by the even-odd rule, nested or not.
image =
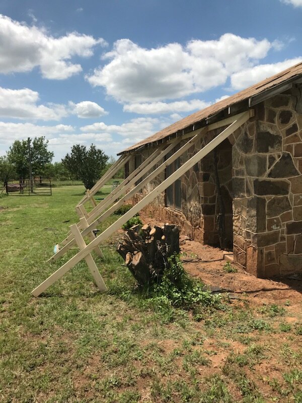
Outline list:
[[[208,106],[198,112],[181,119],[170,126],[158,131],[154,135],[140,141],[139,143],[127,148],[119,154],[140,149],[152,143],[162,143],[167,137],[176,137],[184,132],[196,130],[199,127],[206,126],[208,123],[221,120],[226,116],[232,116],[256,105],[275,94],[279,94],[289,89],[292,83],[302,78],[302,62],[275,74],[260,83],[238,92],[222,101]]]

